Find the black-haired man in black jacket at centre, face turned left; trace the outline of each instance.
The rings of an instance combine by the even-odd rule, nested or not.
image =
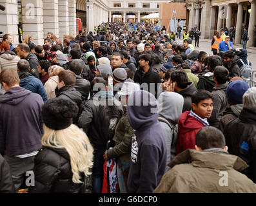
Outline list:
[[[158,88],[161,84],[159,74],[152,70],[152,55],[144,53],[139,56],[139,69],[135,72],[134,82],[141,84],[141,88],[157,97]],[[143,84],[144,83],[144,84]],[[152,89],[154,89],[152,91]]]

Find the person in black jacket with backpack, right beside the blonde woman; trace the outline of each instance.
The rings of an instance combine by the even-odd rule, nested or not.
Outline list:
[[[78,120],[79,127],[87,133],[94,147],[94,167],[92,168],[92,192],[101,193],[103,186],[104,152],[108,140],[112,140],[115,126],[121,115],[122,108],[115,104],[113,93],[107,91],[107,82],[103,77],[96,77],[91,83],[94,93],[90,100],[85,100],[82,113]]]

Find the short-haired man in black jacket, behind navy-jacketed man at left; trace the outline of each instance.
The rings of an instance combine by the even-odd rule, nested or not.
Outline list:
[[[18,56],[21,57],[21,59],[26,59],[30,64],[30,73],[39,79],[39,73],[37,71],[38,67],[38,59],[34,55],[34,53],[30,52],[30,48],[28,44],[22,43],[17,46],[18,50]]]

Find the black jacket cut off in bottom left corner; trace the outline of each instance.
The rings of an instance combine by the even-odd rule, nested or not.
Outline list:
[[[12,174],[5,158],[0,154],[0,193],[14,193]]]

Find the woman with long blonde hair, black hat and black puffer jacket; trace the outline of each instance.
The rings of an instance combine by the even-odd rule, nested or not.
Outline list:
[[[72,124],[77,113],[71,100],[52,98],[43,105],[43,147],[35,156],[35,183],[29,192],[85,192],[94,149],[86,134]]]

